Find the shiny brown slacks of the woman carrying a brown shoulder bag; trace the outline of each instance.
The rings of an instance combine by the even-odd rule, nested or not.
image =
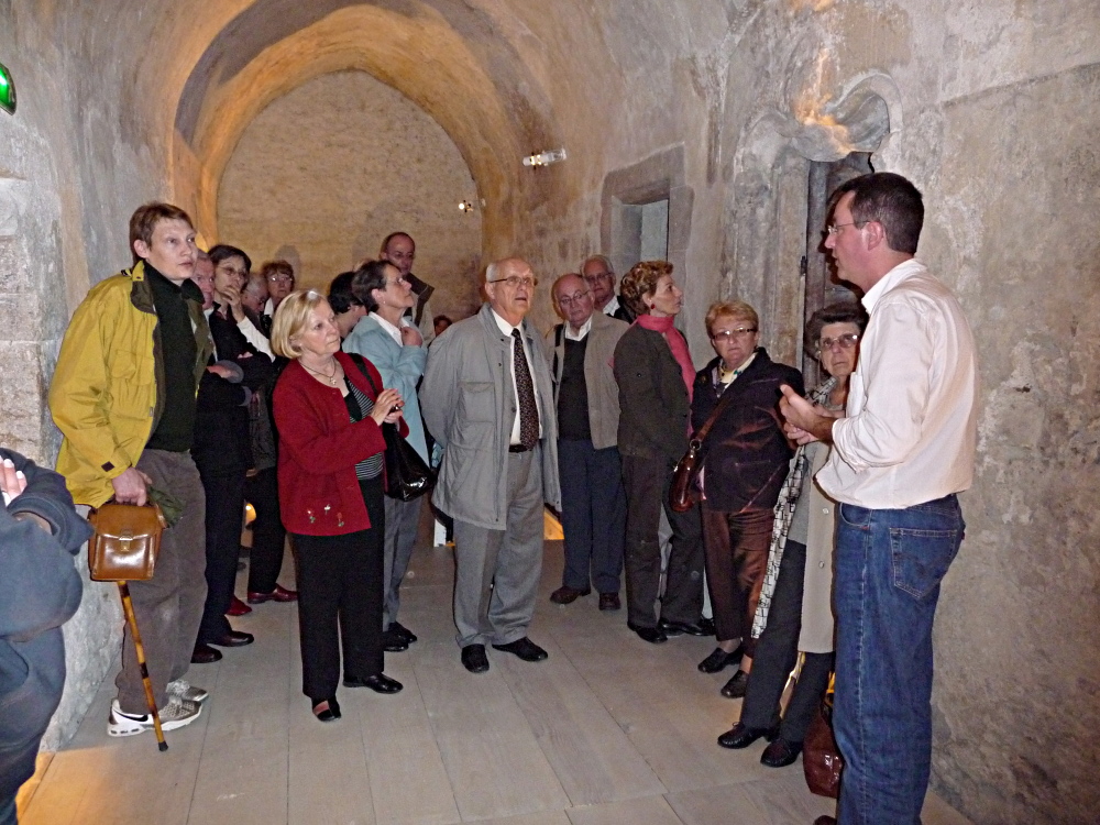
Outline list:
[[[752,656],[752,617],[760,602],[774,516],[768,510],[723,513],[703,506],[706,584],[718,641],[744,639]]]

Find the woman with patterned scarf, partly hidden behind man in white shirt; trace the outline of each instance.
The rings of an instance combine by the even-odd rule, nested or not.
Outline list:
[[[867,320],[859,304],[833,304],[814,312],[806,324],[806,349],[813,351],[829,375],[810,393],[810,399],[833,415],[843,415],[848,378],[856,369],[859,337]],[[769,768],[782,768],[799,758],[833,669],[829,600],[836,503],[813,481],[828,452],[826,444],[815,441],[800,447],[791,462],[776,505],[768,573],[752,627],[752,634],[759,636],[752,675],[740,721],[718,737],[725,748],[745,748],[761,736],[774,735],[780,696],[799,651],[803,651],[805,660],[778,737],[760,757]]]

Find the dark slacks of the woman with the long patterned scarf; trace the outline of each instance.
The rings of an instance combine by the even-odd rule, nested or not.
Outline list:
[[[788,539],[768,612],[768,626],[757,641],[752,673],[741,705],[740,721],[748,727],[771,727],[779,713],[787,678],[799,658],[805,572],[806,546]],[[779,732],[787,741],[805,739],[814,710],[828,686],[832,668],[833,653],[806,653]]]

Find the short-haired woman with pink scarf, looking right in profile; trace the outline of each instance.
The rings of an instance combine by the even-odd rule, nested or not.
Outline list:
[[[668,261],[642,261],[623,278],[622,297],[637,314],[615,348],[619,388],[618,448],[626,490],[627,626],[646,641],[669,635],[705,635],[703,548],[698,507],[669,506],[672,470],[688,449],[691,388],[695,375],[688,342],[673,326],[683,292]],[[661,508],[672,527],[664,595],[661,582]]]

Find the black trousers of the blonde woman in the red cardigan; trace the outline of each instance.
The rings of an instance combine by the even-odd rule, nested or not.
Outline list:
[[[383,544],[382,479],[360,482],[371,527],[343,536],[293,534],[298,565],[301,692],[316,704],[337,695],[340,652],[345,679],[381,673]]]

